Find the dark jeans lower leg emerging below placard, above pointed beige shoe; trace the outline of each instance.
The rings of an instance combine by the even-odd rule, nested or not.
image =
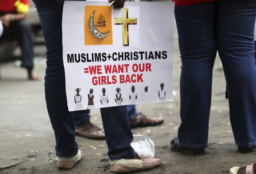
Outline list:
[[[127,107],[102,108],[101,117],[110,160],[134,158],[135,152],[130,146],[133,141],[133,134],[128,122]]]

